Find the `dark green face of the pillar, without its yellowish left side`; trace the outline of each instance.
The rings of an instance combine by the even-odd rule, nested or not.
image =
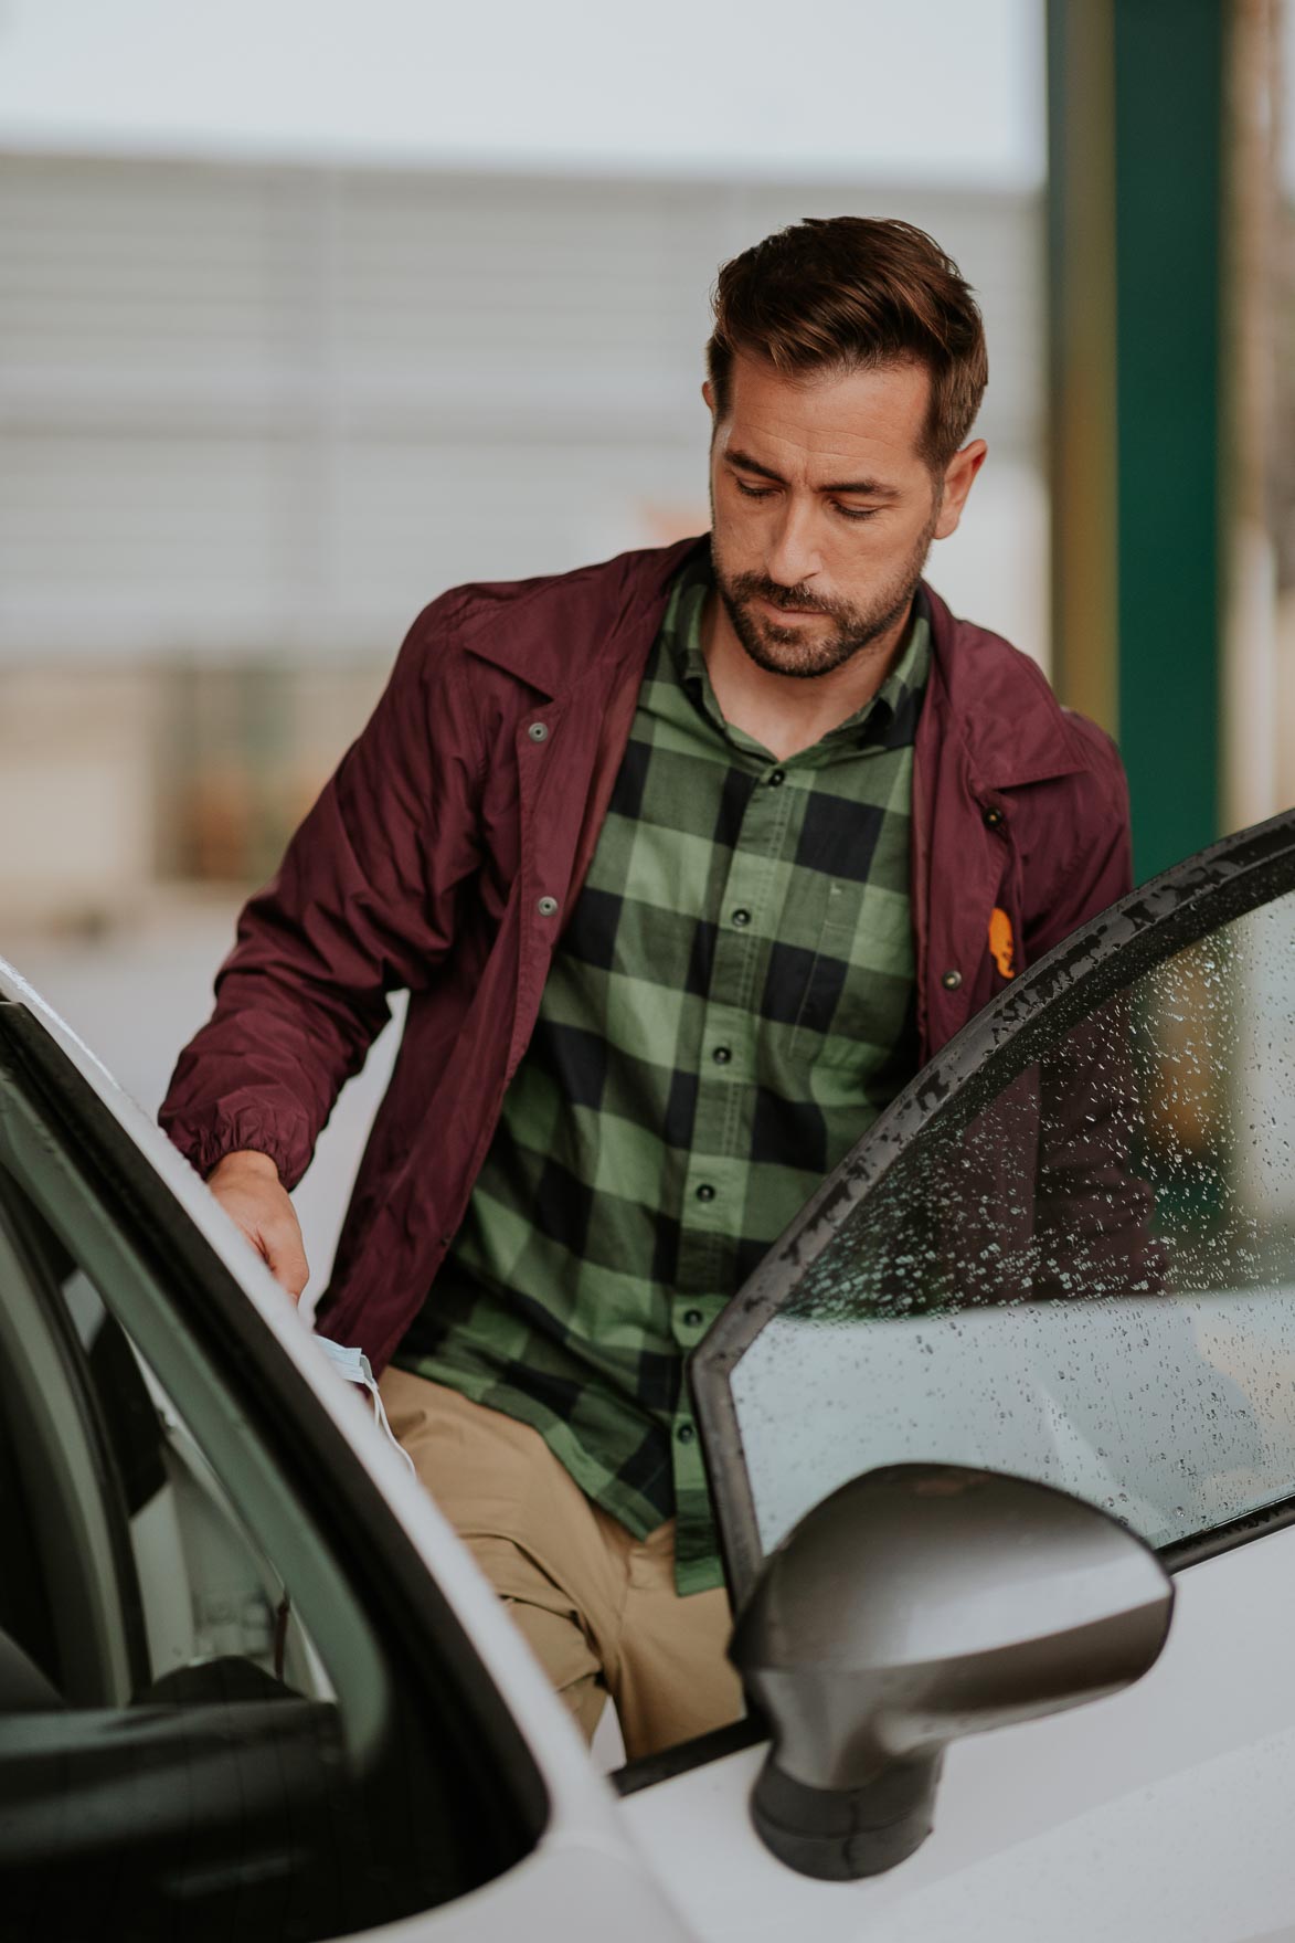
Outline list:
[[[1120,746],[1138,876],[1219,834],[1223,0],[1116,0]]]

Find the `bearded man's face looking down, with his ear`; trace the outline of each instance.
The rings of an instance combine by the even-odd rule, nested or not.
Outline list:
[[[907,614],[926,550],[957,527],[984,459],[977,439],[932,472],[920,453],[928,394],[914,363],[780,377],[734,358],[711,443],[713,552],[757,666],[827,674]]]

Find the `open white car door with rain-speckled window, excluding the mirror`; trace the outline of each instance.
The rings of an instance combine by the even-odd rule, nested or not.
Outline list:
[[[1295,1937],[1295,812],[1015,979],[825,1181],[691,1381],[738,1609],[804,1514],[905,1463],[1060,1486],[1177,1591],[1138,1685],[957,1739],[930,1836],[866,1881],[761,1850],[759,1721],[627,1770],[705,1935]]]

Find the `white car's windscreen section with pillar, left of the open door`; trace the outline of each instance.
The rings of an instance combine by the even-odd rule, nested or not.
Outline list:
[[[0,1935],[685,1937],[363,1393],[0,968]]]

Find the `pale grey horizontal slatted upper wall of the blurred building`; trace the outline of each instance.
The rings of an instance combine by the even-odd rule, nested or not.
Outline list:
[[[705,525],[714,270],[843,210],[961,260],[1029,460],[1033,198],[0,157],[0,659],[390,657],[454,581]]]

